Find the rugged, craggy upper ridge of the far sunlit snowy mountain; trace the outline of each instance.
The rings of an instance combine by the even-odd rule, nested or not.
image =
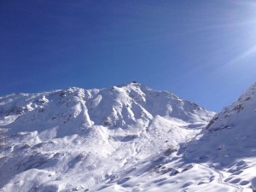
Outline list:
[[[8,125],[9,131],[44,131],[58,126],[58,137],[79,134],[94,125],[126,129],[139,121],[147,126],[156,116],[205,123],[213,114],[170,92],[151,90],[138,83],[102,90],[73,87],[9,95],[0,97],[0,106],[0,125]]]

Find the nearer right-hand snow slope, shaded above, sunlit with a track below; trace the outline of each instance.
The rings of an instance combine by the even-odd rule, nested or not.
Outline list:
[[[139,160],[90,191],[256,191],[256,84],[195,137]]]

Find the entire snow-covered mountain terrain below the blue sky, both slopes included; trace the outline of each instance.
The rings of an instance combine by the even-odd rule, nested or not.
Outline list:
[[[137,83],[1,96],[0,191],[252,191],[255,108],[256,84],[219,114]]]

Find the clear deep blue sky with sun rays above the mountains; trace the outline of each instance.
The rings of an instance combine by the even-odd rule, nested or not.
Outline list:
[[[0,95],[137,81],[219,111],[255,82],[256,2],[0,2]]]

